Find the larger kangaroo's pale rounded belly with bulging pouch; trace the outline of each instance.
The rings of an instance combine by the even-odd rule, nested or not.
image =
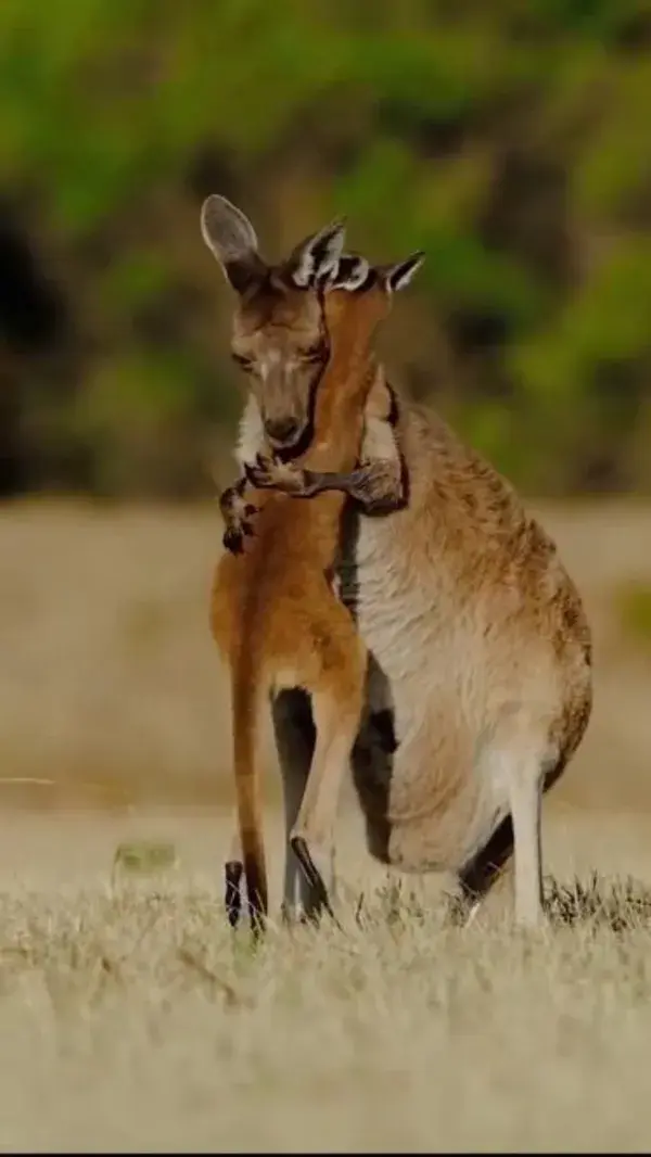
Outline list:
[[[562,688],[545,640],[524,648],[506,618],[500,626],[479,603],[454,609],[434,559],[416,581],[390,522],[361,525],[355,583],[342,583],[372,655],[354,781],[371,855],[405,871],[456,870],[509,810],[504,757],[537,744],[541,774],[553,759],[546,735]],[[392,744],[377,718],[391,720]]]

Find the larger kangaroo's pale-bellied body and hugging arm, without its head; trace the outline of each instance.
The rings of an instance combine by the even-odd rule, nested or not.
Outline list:
[[[407,872],[453,871],[469,920],[515,850],[515,919],[533,926],[541,796],[591,715],[590,627],[555,544],[512,486],[441,418],[392,393],[409,501],[390,519],[369,517],[386,481],[372,421],[353,471],[265,459],[254,481],[348,499],[338,577],[369,653],[352,762],[371,855]],[[275,699],[273,720],[297,801],[313,747],[299,690]],[[299,886],[318,913],[318,893]],[[286,863],[288,902],[293,887]]]

